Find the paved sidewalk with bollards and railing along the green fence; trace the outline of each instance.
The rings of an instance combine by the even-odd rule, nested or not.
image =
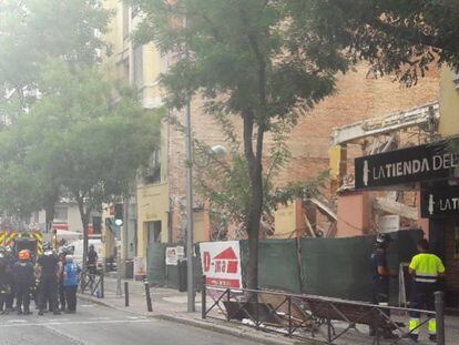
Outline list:
[[[130,306],[124,306],[124,282],[129,282],[129,300]],[[105,277],[105,297],[96,298],[88,294],[79,294],[80,301],[91,301],[111,308],[133,313],[137,315],[144,315],[147,317],[154,317],[160,319],[166,319],[187,324],[195,327],[210,329],[217,333],[228,334],[233,336],[244,337],[252,339],[261,344],[274,344],[274,345],[292,345],[292,344],[322,344],[317,341],[302,342],[287,338],[282,335],[265,333],[263,331],[255,331],[254,328],[238,325],[236,323],[226,323],[217,319],[202,319],[201,318],[201,294],[196,295],[196,313],[186,312],[186,293],[180,293],[176,290],[164,287],[151,287],[150,293],[152,296],[153,312],[149,313],[146,308],[145,288],[142,282],[122,281],[121,288],[123,296],[116,296],[116,280]],[[207,307],[211,301],[207,300]],[[222,317],[222,314],[214,314],[217,317]],[[335,325],[337,331],[340,328],[339,323]],[[360,327],[359,327],[360,328]],[[366,333],[366,329],[359,329],[361,333]],[[459,317],[448,316],[446,319],[447,331],[447,344],[459,344]],[[350,344],[371,344],[371,338],[366,337],[364,334],[357,332],[350,332],[346,337],[337,341],[337,344],[350,345]],[[381,342],[385,344],[385,342]],[[390,344],[388,342],[387,344]],[[415,344],[410,341],[404,339],[398,344]],[[432,344],[428,341],[420,341],[418,344]]]

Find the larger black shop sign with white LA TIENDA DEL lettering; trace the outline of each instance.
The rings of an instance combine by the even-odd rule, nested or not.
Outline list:
[[[459,154],[447,142],[401,149],[355,160],[357,190],[446,180],[459,166]]]

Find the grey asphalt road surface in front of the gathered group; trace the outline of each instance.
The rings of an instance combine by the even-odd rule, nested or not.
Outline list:
[[[165,321],[151,319],[100,305],[81,303],[76,314],[0,315],[0,345],[254,345]]]

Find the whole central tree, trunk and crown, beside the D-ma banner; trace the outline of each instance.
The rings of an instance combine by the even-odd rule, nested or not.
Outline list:
[[[294,125],[335,90],[335,74],[349,59],[337,42],[320,47],[314,32],[292,13],[288,1],[132,0],[144,13],[136,40],[155,42],[178,57],[162,77],[166,103],[181,109],[203,97],[210,113],[243,122],[248,237],[247,286],[257,287],[258,233],[265,201],[265,135]],[[186,24],[182,24],[185,22]],[[300,33],[300,35],[298,35]],[[333,42],[332,42],[333,43]]]

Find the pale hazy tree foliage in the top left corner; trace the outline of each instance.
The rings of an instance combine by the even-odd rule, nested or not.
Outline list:
[[[110,18],[101,0],[1,1],[0,89],[14,89],[27,108],[48,59],[80,65],[99,59],[109,48],[101,34]]]

